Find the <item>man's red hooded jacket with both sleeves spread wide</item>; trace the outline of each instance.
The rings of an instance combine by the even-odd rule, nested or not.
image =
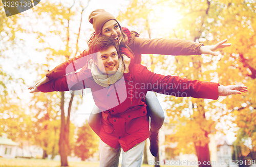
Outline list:
[[[109,87],[98,85],[91,70],[84,67],[38,87],[39,91],[67,91],[91,88],[95,104],[102,112],[100,138],[113,148],[119,145],[130,150],[149,136],[145,94],[155,91],[176,97],[218,99],[218,83],[189,80],[152,73],[145,66],[133,63],[130,73]]]

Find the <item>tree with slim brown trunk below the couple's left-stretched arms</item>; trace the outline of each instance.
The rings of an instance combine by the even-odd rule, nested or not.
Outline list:
[[[41,43],[41,47],[37,50],[47,54],[49,66],[53,61],[60,63],[69,59],[71,56],[77,55],[82,13],[87,7],[83,6],[82,2],[75,4],[75,1],[55,3],[46,1],[40,2],[33,8],[34,11],[31,20],[25,23],[25,26],[30,23],[32,28],[26,29],[26,33],[36,35],[38,41]],[[77,20],[76,17],[80,17],[80,20]],[[45,23],[47,27],[44,27],[44,31],[41,31],[34,22]],[[53,39],[55,39],[54,43],[57,44],[55,47],[52,46]],[[67,157],[71,150],[69,138],[71,133],[70,116],[73,101],[76,102],[77,107],[79,98],[74,97],[74,93],[60,93],[59,155],[61,166],[68,166]],[[68,106],[67,111],[65,111],[66,105]]]

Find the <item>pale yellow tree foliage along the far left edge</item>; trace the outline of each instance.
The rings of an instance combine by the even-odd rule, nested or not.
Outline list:
[[[31,127],[31,117],[25,113],[26,105],[17,92],[22,91],[26,85],[22,78],[14,78],[10,71],[5,71],[3,65],[13,56],[10,55],[10,51],[22,48],[22,42],[18,45],[22,40],[15,32],[23,29],[18,26],[19,17],[6,17],[2,2],[0,5],[0,134],[7,133],[8,138],[18,142],[22,147],[23,142],[31,136],[27,131]],[[19,64],[13,68],[18,69]]]

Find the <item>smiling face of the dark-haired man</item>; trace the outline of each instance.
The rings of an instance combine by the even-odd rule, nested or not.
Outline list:
[[[106,73],[108,75],[115,74],[119,67],[118,55],[115,46],[110,46],[105,51],[100,51],[100,54],[97,55],[97,62],[95,62],[95,64],[102,73]]]

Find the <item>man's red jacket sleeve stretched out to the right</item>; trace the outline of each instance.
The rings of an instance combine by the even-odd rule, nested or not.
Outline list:
[[[141,80],[148,91],[156,91],[175,97],[193,97],[217,100],[219,83],[190,80],[177,76],[155,74],[146,67],[142,68]]]

